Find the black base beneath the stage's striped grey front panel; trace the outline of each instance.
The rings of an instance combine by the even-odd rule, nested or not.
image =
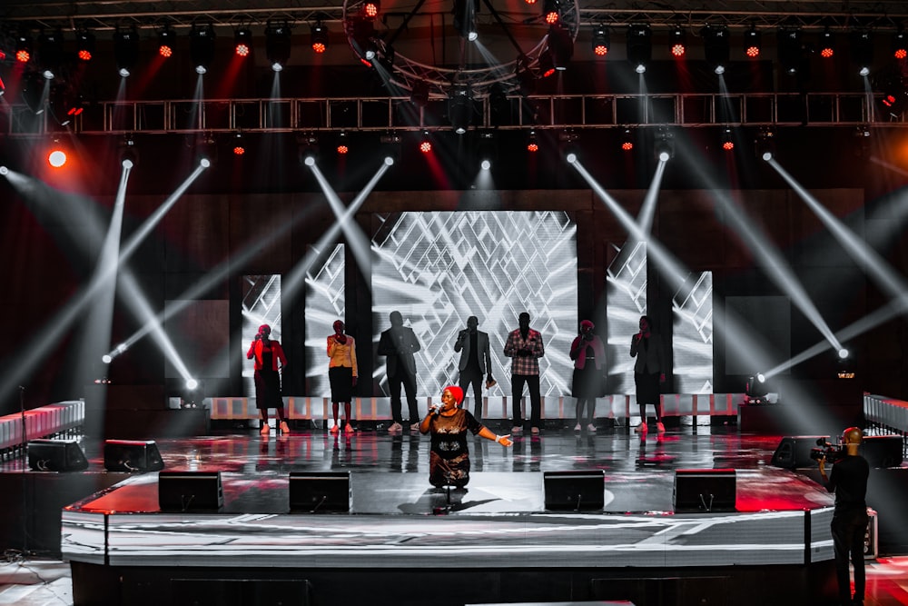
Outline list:
[[[519,564],[519,561],[515,562]],[[834,564],[663,569],[333,569],[104,568],[73,562],[74,606],[230,606],[239,595],[281,595],[288,606],[463,606],[515,601],[627,600],[635,606],[804,606],[835,598]],[[274,583],[274,581],[284,581]],[[264,589],[268,583],[278,585]],[[232,591],[229,591],[231,590]],[[441,591],[440,588],[443,588]],[[784,588],[784,590],[783,590]],[[207,598],[206,598],[207,596]],[[227,601],[219,601],[231,596]],[[187,602],[198,598],[200,601]],[[275,603],[247,601],[243,604]]]

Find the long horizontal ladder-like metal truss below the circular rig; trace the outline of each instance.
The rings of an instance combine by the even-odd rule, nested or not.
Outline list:
[[[9,136],[81,134],[395,133],[449,130],[445,102],[417,107],[409,97],[220,99],[104,102],[61,124],[53,108],[0,107]],[[473,129],[559,129],[667,126],[908,126],[908,115],[881,114],[874,95],[856,93],[566,94],[508,97],[507,124],[489,99],[477,99]]]

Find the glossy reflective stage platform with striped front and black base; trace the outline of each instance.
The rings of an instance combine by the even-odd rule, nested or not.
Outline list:
[[[209,512],[161,512],[159,474],[104,472],[99,443],[84,442],[84,472],[8,461],[4,476],[100,486],[62,514],[76,604],[834,597],[832,495],[809,473],[769,464],[778,436],[696,430],[547,429],[510,449],[471,439],[471,481],[450,495],[429,485],[429,437],[419,433],[244,430],[156,442],[165,472],[220,472],[223,506]],[[679,469],[735,470],[734,511],[675,512]],[[602,508],[548,510],[544,475],[563,471],[601,471]],[[291,472],[350,472],[350,512],[291,512]]]

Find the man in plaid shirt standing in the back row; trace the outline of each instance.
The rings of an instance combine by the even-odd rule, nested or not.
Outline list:
[[[520,328],[508,333],[505,343],[505,355],[511,361],[511,410],[514,416],[514,427],[511,433],[523,431],[523,416],[520,413],[520,398],[523,397],[523,385],[529,387],[529,402],[532,407],[529,422],[534,435],[539,433],[541,424],[542,399],[539,395],[539,358],[546,354],[542,344],[542,333],[529,327],[529,313],[518,316]]]

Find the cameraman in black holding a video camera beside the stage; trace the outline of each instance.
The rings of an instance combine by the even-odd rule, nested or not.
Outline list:
[[[833,513],[833,550],[839,598],[844,605],[864,604],[864,533],[867,531],[867,478],[870,465],[858,454],[864,433],[849,427],[842,434],[843,456],[833,464],[832,477],[826,476],[825,457],[821,457],[820,475],[826,490],[835,492]],[[854,598],[848,580],[848,561],[854,566]]]

